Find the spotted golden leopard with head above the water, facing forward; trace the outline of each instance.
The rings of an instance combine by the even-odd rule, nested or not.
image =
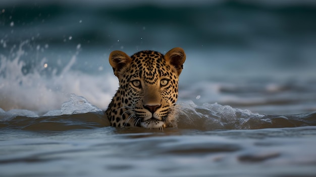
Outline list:
[[[119,80],[105,114],[112,127],[176,127],[178,81],[186,54],[180,47],[165,54],[142,50],[129,56],[115,50],[109,63]]]

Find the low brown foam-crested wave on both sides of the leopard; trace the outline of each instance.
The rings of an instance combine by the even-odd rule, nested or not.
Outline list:
[[[192,101],[180,103],[178,108],[179,129],[212,131],[316,126],[316,112],[297,115],[262,115],[217,103],[197,106]],[[30,110],[0,109],[0,127],[56,131],[107,126],[110,126],[110,123],[104,112],[84,97],[75,94],[62,104],[61,109],[48,111],[44,116],[38,116]]]

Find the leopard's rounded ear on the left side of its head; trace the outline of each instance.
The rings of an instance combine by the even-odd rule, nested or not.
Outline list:
[[[119,78],[123,68],[132,62],[132,58],[123,51],[114,50],[110,53],[109,62],[115,76]]]

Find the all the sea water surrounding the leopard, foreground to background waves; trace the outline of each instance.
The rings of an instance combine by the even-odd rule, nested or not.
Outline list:
[[[0,176],[315,176],[315,9],[0,2]],[[178,127],[109,127],[110,52],[173,47]]]

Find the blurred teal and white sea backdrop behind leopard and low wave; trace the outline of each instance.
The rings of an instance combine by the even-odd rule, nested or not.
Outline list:
[[[316,110],[316,2],[0,1],[0,108],[105,109],[112,50],[186,51],[179,101],[260,113]]]

